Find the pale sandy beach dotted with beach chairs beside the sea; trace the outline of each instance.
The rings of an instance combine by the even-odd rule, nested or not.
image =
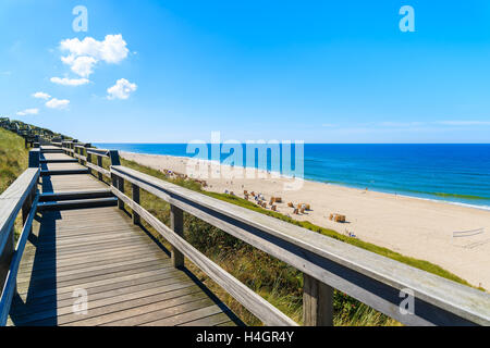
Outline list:
[[[157,170],[188,173],[187,158],[123,151],[121,157]],[[243,198],[246,189],[262,194],[267,201],[279,196],[282,203],[277,204],[278,211],[295,220],[339,233],[354,233],[362,240],[430,261],[471,285],[490,289],[490,211],[309,181],[304,181],[301,189],[284,190],[293,179],[273,177],[264,171],[260,174],[265,178],[209,177],[216,174],[213,170],[208,172],[208,177],[200,177],[207,182],[207,190],[224,192],[226,189]],[[243,173],[243,169],[234,170]],[[309,203],[311,211],[293,215],[293,209],[287,207],[290,201]],[[346,223],[330,221],[330,213],[345,215]],[[453,232],[477,228],[485,232],[453,238]]]

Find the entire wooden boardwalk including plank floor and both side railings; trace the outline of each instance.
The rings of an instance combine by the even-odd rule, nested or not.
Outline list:
[[[490,325],[488,293],[126,167],[115,150],[33,139],[28,169],[0,195],[0,325],[242,325],[191,262],[265,325],[296,326],[186,240],[188,215],[301,272],[304,325],[333,325],[334,289],[406,325]],[[170,226],[142,190],[169,203]]]

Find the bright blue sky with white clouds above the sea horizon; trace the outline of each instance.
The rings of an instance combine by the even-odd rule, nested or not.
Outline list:
[[[0,3],[0,114],[84,141],[490,142],[489,112],[485,0]]]

